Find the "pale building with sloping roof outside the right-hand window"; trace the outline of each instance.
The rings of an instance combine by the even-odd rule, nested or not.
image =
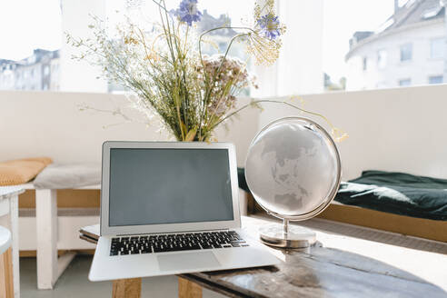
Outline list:
[[[355,3],[367,5],[367,1],[357,0]],[[373,20],[382,18],[382,25],[362,25],[360,19],[353,23],[353,28],[358,29],[353,31],[349,51],[345,55],[346,90],[363,90],[365,86],[366,89],[376,89],[384,84],[397,87],[401,85],[400,81],[406,84],[406,78],[411,78],[412,85],[423,85],[428,84],[432,76],[432,82],[440,82],[439,77],[434,78],[439,75],[443,75],[443,81],[447,83],[447,16],[444,7],[447,1],[415,0],[403,3],[384,0],[383,3],[373,3],[377,7],[382,5],[380,10],[376,10],[377,14],[382,15],[373,16]],[[331,8],[336,10],[335,5]],[[373,11],[373,8],[370,7],[370,10]],[[362,20],[365,17],[366,14]],[[335,28],[331,33],[336,34]],[[331,51],[334,51],[333,48],[335,45],[331,45]],[[376,67],[369,65],[367,70],[363,70],[365,56],[375,57]]]

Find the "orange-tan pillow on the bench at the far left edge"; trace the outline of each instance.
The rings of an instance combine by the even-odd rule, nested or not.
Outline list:
[[[0,163],[0,186],[25,184],[51,163],[53,161],[49,157],[24,158]]]

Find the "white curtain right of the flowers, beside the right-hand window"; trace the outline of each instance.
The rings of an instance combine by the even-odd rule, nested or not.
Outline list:
[[[287,32],[278,61],[254,66],[259,89],[253,96],[323,92],[323,0],[277,0],[276,5]]]

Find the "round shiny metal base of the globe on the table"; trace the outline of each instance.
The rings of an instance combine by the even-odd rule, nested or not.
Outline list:
[[[266,224],[259,228],[261,241],[267,245],[283,248],[305,248],[316,241],[313,230],[303,226],[289,226],[289,220],[284,218],[281,224]]]

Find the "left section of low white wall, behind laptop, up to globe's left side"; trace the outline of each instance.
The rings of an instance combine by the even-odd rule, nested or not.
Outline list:
[[[57,92],[0,92],[0,161],[49,156],[59,163],[101,162],[101,146],[106,140],[163,141],[158,123],[151,126],[98,111],[80,111],[79,104],[114,111],[117,107],[136,121],[145,119],[129,107],[124,95]],[[256,110],[246,110],[221,127],[219,141],[236,144],[238,164],[256,133]],[[251,120],[247,120],[251,119]],[[116,124],[116,125],[114,125]],[[108,126],[104,128],[104,126]]]

